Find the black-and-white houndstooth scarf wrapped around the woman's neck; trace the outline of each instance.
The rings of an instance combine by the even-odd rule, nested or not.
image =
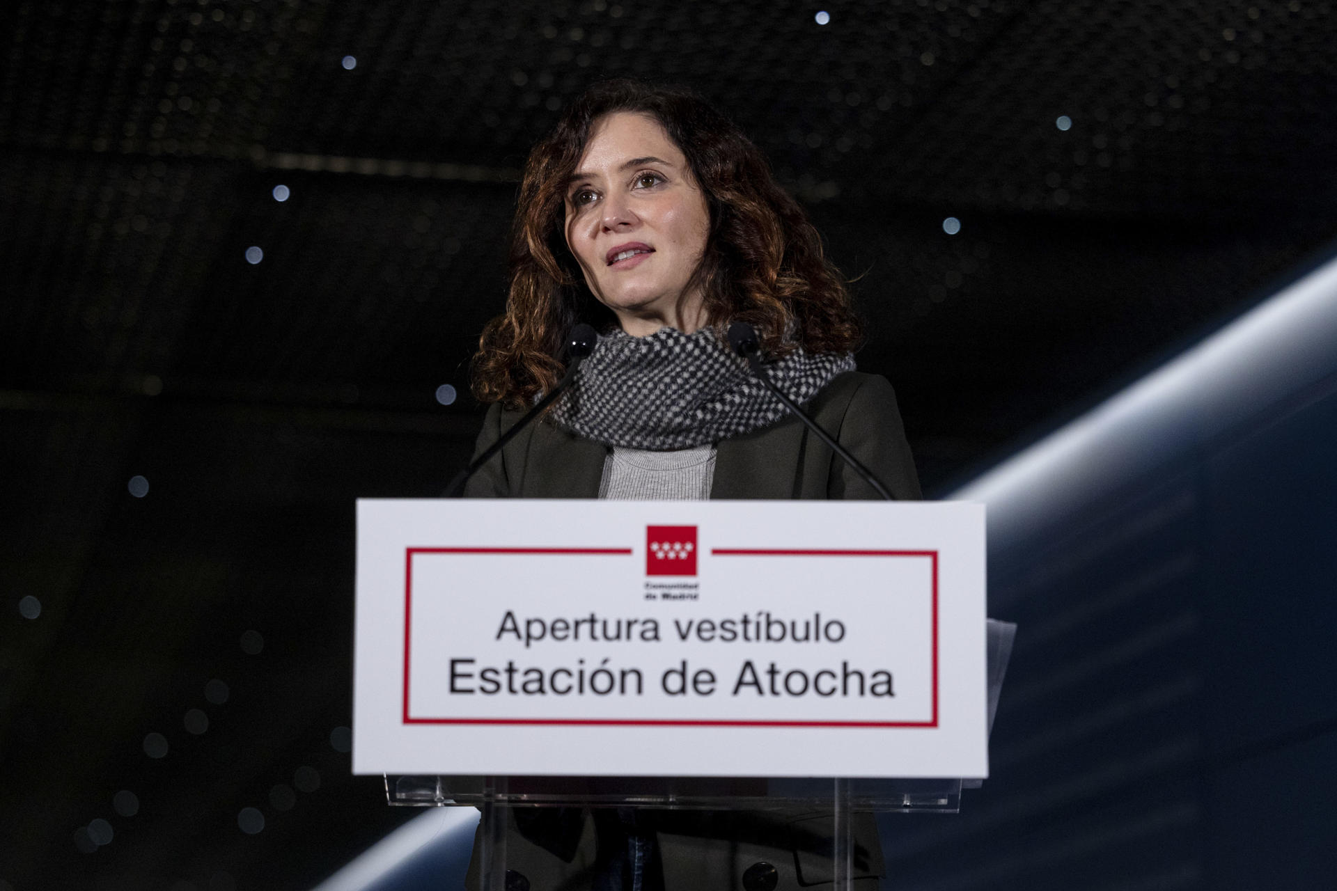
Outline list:
[[[853,367],[849,353],[800,349],[766,370],[782,393],[804,403]],[[787,411],[713,329],[663,327],[648,337],[620,330],[600,337],[551,418],[587,439],[667,452],[758,430]]]

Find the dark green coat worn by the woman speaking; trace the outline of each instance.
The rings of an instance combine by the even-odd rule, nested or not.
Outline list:
[[[919,478],[896,394],[886,378],[849,371],[833,379],[805,406],[824,430],[881,480],[900,500],[920,497]],[[523,415],[493,405],[475,454],[496,442]],[[501,449],[465,486],[471,498],[596,498],[607,446],[545,422],[533,423]],[[877,493],[814,437],[786,417],[769,427],[717,443],[711,498],[876,498]],[[575,808],[511,808],[507,868],[513,887],[531,891],[590,888],[595,875],[608,880],[610,848],[624,831],[614,811],[598,815]],[[830,819],[785,811],[642,811],[636,830],[654,838],[647,891],[725,891],[745,888],[749,870],[774,868],[774,886],[830,883]],[[856,886],[877,888],[881,848],[872,815],[854,818]],[[604,864],[604,866],[600,866]],[[465,886],[479,887],[479,847]],[[751,878],[751,876],[749,876]]]

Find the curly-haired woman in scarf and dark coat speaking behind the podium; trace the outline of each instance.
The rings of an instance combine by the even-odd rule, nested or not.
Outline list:
[[[730,351],[735,321],[757,329],[782,390],[894,497],[919,497],[890,385],[853,370],[860,329],[844,282],[757,147],[690,92],[590,88],[525,164],[507,309],[475,361],[475,393],[493,403],[479,452],[558,383],[574,325],[594,325],[599,342],[572,389],[465,496],[876,497]],[[793,815],[512,810],[507,863],[524,876],[517,887],[648,891],[743,875],[785,887],[804,878],[798,848],[824,844],[796,842],[812,832],[794,826]],[[870,822],[860,847],[876,876]]]

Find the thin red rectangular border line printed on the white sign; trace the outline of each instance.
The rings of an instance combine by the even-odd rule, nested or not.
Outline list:
[[[614,725],[614,727],[937,727],[937,552],[936,550],[793,550],[770,548],[711,548],[714,557],[928,557],[932,562],[932,700],[927,721],[730,721],[689,719],[618,717],[412,717],[409,715],[409,639],[413,605],[414,554],[614,554],[631,556],[631,548],[405,548],[404,549],[404,724],[507,724],[507,725]]]

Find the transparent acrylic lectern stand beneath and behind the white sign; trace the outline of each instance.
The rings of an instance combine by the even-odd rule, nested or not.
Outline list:
[[[1015,635],[1016,625],[988,620],[989,727]],[[884,864],[874,815],[956,812],[963,785],[979,781],[385,777],[392,806],[481,811],[469,887],[483,891],[888,888],[878,879]],[[640,844],[650,838],[652,844]]]

